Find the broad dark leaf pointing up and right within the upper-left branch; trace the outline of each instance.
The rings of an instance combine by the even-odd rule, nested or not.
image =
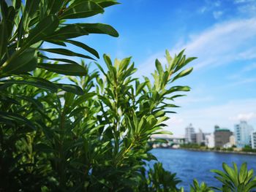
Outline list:
[[[25,39],[23,47],[29,47],[36,42],[45,39],[48,35],[53,34],[59,26],[59,19],[55,15],[49,15],[41,20],[37,26],[31,29],[29,37]]]

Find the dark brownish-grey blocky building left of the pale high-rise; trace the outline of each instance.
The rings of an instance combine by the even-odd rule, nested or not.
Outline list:
[[[224,147],[230,142],[230,136],[233,133],[227,128],[220,128],[219,126],[214,127],[214,146]]]

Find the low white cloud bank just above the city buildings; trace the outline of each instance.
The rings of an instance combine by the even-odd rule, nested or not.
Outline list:
[[[214,125],[227,127],[233,131],[234,125],[243,119],[248,120],[248,123],[256,128],[256,99],[238,99],[208,107],[186,108],[170,117],[176,117],[176,119],[182,117],[180,123],[168,121],[167,130],[172,131],[173,135],[184,134],[185,127],[189,123],[192,123],[195,128],[202,128],[204,132],[213,132]]]

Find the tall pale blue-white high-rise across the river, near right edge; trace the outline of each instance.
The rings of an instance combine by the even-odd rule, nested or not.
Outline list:
[[[242,148],[245,145],[250,145],[252,132],[252,126],[249,126],[245,120],[241,120],[239,124],[235,125],[236,147]]]

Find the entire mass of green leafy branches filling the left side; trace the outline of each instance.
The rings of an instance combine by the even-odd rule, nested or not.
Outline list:
[[[8,6],[1,1],[1,191],[134,191],[146,161],[156,159],[148,139],[165,133],[167,113],[177,107],[172,101],[182,96],[176,92],[190,89],[170,84],[192,72],[183,69],[195,58],[186,58],[184,51],[171,58],[166,52],[167,65],[156,60],[153,80],[132,77],[131,58],[113,62],[104,55],[107,72],[99,64],[91,72],[89,65],[73,61],[72,56],[93,58],[62,48],[66,44],[99,57],[73,38],[118,33],[105,24],[69,20],[97,15],[113,4],[15,0]],[[62,47],[45,49],[45,42]],[[61,74],[73,84],[59,82]]]

